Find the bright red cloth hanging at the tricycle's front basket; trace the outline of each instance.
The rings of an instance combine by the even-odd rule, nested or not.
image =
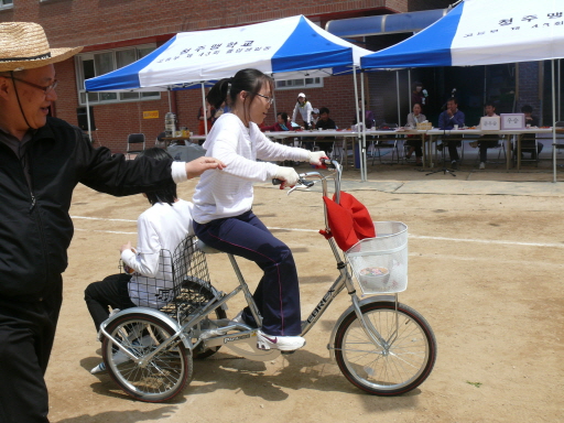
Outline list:
[[[368,209],[352,195],[340,192],[340,204],[323,197],[327,206],[327,220],[330,235],[343,251],[365,238],[375,238],[376,229]]]

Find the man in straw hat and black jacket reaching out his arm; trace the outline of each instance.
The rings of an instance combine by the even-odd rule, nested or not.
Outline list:
[[[223,169],[126,161],[94,149],[83,132],[47,117],[57,99],[54,63],[82,47],[50,48],[36,23],[0,23],[0,422],[48,422],[47,367],[73,236],[73,189],[138,194]]]

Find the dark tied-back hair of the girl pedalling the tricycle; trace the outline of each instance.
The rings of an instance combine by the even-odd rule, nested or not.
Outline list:
[[[212,87],[206,98],[216,109],[218,109],[224,101],[232,109],[239,93],[247,91],[249,95],[245,98],[243,102],[243,106],[246,106],[245,112],[247,113],[247,99],[249,99],[250,105],[264,84],[270,85],[271,91],[274,89],[274,82],[268,75],[264,75],[258,69],[242,69],[235,74],[232,78],[224,78],[217,82]]]

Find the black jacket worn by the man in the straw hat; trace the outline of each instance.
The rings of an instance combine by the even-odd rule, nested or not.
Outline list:
[[[48,293],[67,267],[73,238],[73,189],[83,183],[117,195],[172,184],[171,162],[126,161],[94,149],[80,129],[47,118],[26,149],[32,186],[15,153],[0,143],[0,296],[33,301]]]

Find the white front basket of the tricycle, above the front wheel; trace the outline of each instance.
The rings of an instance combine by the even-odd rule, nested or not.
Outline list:
[[[376,237],[345,252],[364,294],[395,293],[408,288],[408,227],[375,221]]]

